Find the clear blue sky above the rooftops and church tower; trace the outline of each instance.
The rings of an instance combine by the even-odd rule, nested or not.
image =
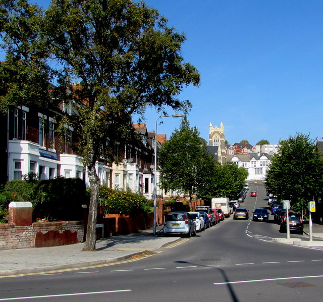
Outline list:
[[[47,7],[49,1],[31,1]],[[278,143],[297,132],[322,139],[323,1],[147,0],[187,41],[185,61],[200,87],[181,99],[193,105],[190,126],[208,140],[209,123],[223,122],[229,143]],[[169,111],[169,114],[174,112]],[[147,111],[148,131],[158,114]],[[169,138],[180,119],[164,118]],[[134,121],[135,122],[135,121]]]

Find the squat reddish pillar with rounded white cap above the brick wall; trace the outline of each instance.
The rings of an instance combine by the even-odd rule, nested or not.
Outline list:
[[[16,226],[32,224],[32,204],[30,202],[12,202],[9,204],[8,223]]]

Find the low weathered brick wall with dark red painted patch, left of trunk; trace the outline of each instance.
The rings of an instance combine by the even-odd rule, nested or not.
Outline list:
[[[30,226],[0,224],[0,249],[72,244],[83,241],[83,221],[34,222]]]

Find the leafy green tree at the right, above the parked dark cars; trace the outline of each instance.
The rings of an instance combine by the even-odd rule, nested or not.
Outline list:
[[[267,171],[266,188],[281,199],[290,200],[296,211],[306,208],[323,186],[323,162],[309,135],[297,133],[279,142]]]

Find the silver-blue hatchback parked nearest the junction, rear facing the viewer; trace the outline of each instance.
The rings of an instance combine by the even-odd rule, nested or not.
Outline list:
[[[166,217],[163,233],[164,235],[181,234],[191,237],[196,235],[195,221],[188,212],[171,212]]]

